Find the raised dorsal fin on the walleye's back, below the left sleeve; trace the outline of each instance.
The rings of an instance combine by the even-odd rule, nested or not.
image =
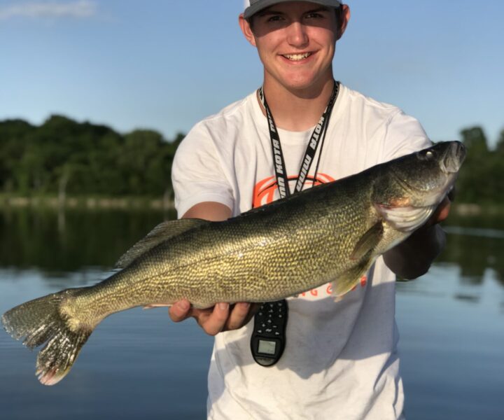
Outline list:
[[[146,237],[140,239],[136,244],[134,244],[130,249],[128,249],[116,262],[116,268],[126,268],[134,260],[139,258],[147,251],[154,248],[156,245],[160,244],[162,241],[180,235],[183,232],[187,232],[198,226],[205,225],[209,223],[202,219],[179,219],[177,221],[167,221],[157,225],[151,232],[148,232]]]

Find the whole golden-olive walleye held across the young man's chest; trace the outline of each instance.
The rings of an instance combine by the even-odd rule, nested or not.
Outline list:
[[[332,282],[344,295],[374,260],[425,223],[465,158],[458,141],[436,144],[223,222],[158,225],[101,283],[31,300],[3,314],[4,328],[38,353],[45,385],[70,370],[106,316],[138,306],[267,302]]]

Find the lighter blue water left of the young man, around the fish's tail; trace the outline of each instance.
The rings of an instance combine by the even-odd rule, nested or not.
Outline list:
[[[106,276],[98,269],[83,273],[0,269],[0,314],[63,286],[86,286]],[[170,322],[166,310],[123,311],[94,330],[64,381],[43,386],[34,375],[36,351],[0,328],[0,418],[203,419],[212,343],[193,321]]]

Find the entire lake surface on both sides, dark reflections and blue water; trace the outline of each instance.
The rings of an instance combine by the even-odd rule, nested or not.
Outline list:
[[[34,297],[104,279],[155,212],[0,211],[0,314]],[[408,420],[504,419],[504,225],[463,218],[421,279],[398,283]],[[57,386],[34,376],[36,352],[0,331],[1,419],[203,419],[213,339],[166,309],[99,325]]]

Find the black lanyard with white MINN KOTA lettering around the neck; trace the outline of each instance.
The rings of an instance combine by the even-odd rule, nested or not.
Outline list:
[[[321,151],[320,153],[318,153],[318,160],[320,160],[323,147],[323,139],[325,138],[325,132],[327,131],[330,114],[332,112],[332,107],[336,102],[338,92],[339,92],[339,82],[335,80],[334,87],[332,87],[332,95],[329,99],[328,105],[325,107],[325,111],[323,111],[320,120],[318,120],[318,123],[315,126],[314,131],[311,133],[307,150],[304,152],[304,158],[302,159],[301,162],[301,167],[299,175],[297,176],[294,193],[299,193],[302,190],[304,186],[304,181],[306,181],[309,169],[311,167],[311,163],[314,160],[315,153],[319,143],[321,143]],[[285,160],[283,160],[283,153],[281,151],[280,137],[278,131],[276,130],[276,125],[274,123],[272,113],[269,110],[269,106],[266,102],[266,97],[264,91],[262,90],[262,86],[259,88],[258,94],[262,106],[264,106],[266,110],[266,116],[269,128],[269,139],[271,139],[271,145],[272,145],[273,164],[274,164],[273,166],[280,198],[288,197],[290,195],[290,189],[288,186],[288,176],[286,171]],[[315,170],[315,175],[317,170],[318,170],[318,162]]]

